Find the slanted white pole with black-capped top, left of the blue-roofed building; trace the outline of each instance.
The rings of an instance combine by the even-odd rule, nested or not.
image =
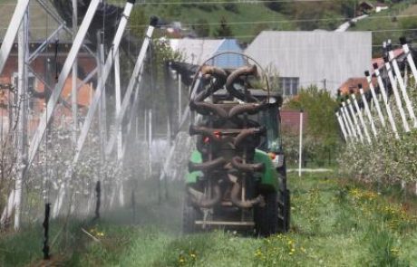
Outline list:
[[[148,28],[148,31],[146,33],[146,37],[145,40],[142,43],[141,46],[141,52],[139,52],[138,55],[138,59],[136,60],[135,63],[135,67],[133,69],[133,72],[131,74],[131,80],[129,81],[129,85],[128,88],[126,90],[126,92],[124,93],[123,96],[123,100],[121,102],[121,112],[120,114],[117,116],[116,120],[115,120],[115,129],[121,127],[121,122],[124,118],[124,114],[126,112],[126,110],[128,109],[129,103],[131,101],[131,93],[133,91],[133,89],[135,88],[135,86],[137,84],[139,84],[139,82],[141,81],[141,67],[143,65],[143,62],[145,60],[145,56],[146,56],[146,52],[148,51],[149,45],[150,45],[150,38],[152,37],[152,33],[154,30],[154,26],[150,25]],[[117,132],[113,132],[110,140],[107,142],[107,146],[105,149],[105,153],[106,155],[110,155],[112,153],[112,149],[115,143],[115,139],[117,136]]]

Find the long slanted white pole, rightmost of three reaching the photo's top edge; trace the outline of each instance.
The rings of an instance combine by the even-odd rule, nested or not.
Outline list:
[[[112,71],[112,64],[114,62],[115,52],[117,52],[117,50],[119,49],[119,45],[121,43],[121,37],[124,33],[124,30],[128,23],[129,16],[131,14],[131,10],[133,8],[133,3],[131,2],[134,2],[134,1],[129,0],[129,2],[126,3],[123,14],[121,15],[121,21],[119,23],[119,26],[113,38],[112,49],[109,52],[106,63],[104,65],[104,70],[102,72],[102,79],[99,79],[98,81],[97,88],[94,92],[94,97],[92,99],[92,103],[90,104],[90,109],[88,110],[85,121],[82,124],[82,131],[77,140],[77,146],[75,148],[75,155],[73,157],[73,162],[70,166],[67,167],[65,171],[65,176],[64,176],[65,179],[68,179],[69,177],[73,176],[73,167],[75,167],[78,163],[78,160],[81,156],[85,139],[87,138],[88,131],[92,124],[92,118],[94,116],[95,111],[97,110],[97,106],[99,102],[102,100],[102,90],[103,90],[104,84],[107,81],[107,78],[109,77],[110,72]],[[65,181],[60,186],[59,193],[58,193],[59,197],[56,200],[56,204],[53,205],[53,217],[56,217],[59,214],[59,211],[63,204],[63,195],[65,192],[64,188],[65,188]]]

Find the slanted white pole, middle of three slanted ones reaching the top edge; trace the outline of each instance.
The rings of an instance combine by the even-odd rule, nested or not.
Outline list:
[[[36,156],[42,138],[44,138],[45,130],[53,116],[53,110],[55,110],[56,104],[60,99],[61,93],[63,91],[63,85],[71,72],[73,62],[75,61],[75,58],[82,47],[82,42],[85,38],[88,28],[90,27],[90,24],[92,23],[92,18],[94,17],[97,7],[100,3],[101,0],[92,0],[86,14],[84,15],[82,24],[80,25],[79,31],[75,36],[73,46],[71,47],[71,50],[68,53],[68,57],[63,64],[63,69],[60,72],[58,82],[55,84],[54,90],[51,94],[51,97],[49,98],[44,114],[42,115],[42,118],[39,122],[39,126],[34,133],[34,138],[32,138],[32,141],[30,143],[28,167],[30,167],[32,162],[34,161],[34,157]]]

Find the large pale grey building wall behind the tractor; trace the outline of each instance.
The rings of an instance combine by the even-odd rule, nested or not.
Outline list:
[[[371,68],[371,32],[259,33],[245,51],[270,73],[277,73],[284,95],[316,85],[336,94],[344,81]]]

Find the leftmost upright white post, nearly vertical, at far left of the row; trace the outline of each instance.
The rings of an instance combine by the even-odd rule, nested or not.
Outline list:
[[[18,98],[17,112],[19,113],[17,125],[17,178],[15,180],[15,230],[20,228],[20,217],[22,215],[23,186],[24,186],[24,168],[26,167],[26,142],[27,142],[27,59],[28,47],[28,10],[24,14],[20,24],[18,46],[19,46],[19,64],[18,64]]]

